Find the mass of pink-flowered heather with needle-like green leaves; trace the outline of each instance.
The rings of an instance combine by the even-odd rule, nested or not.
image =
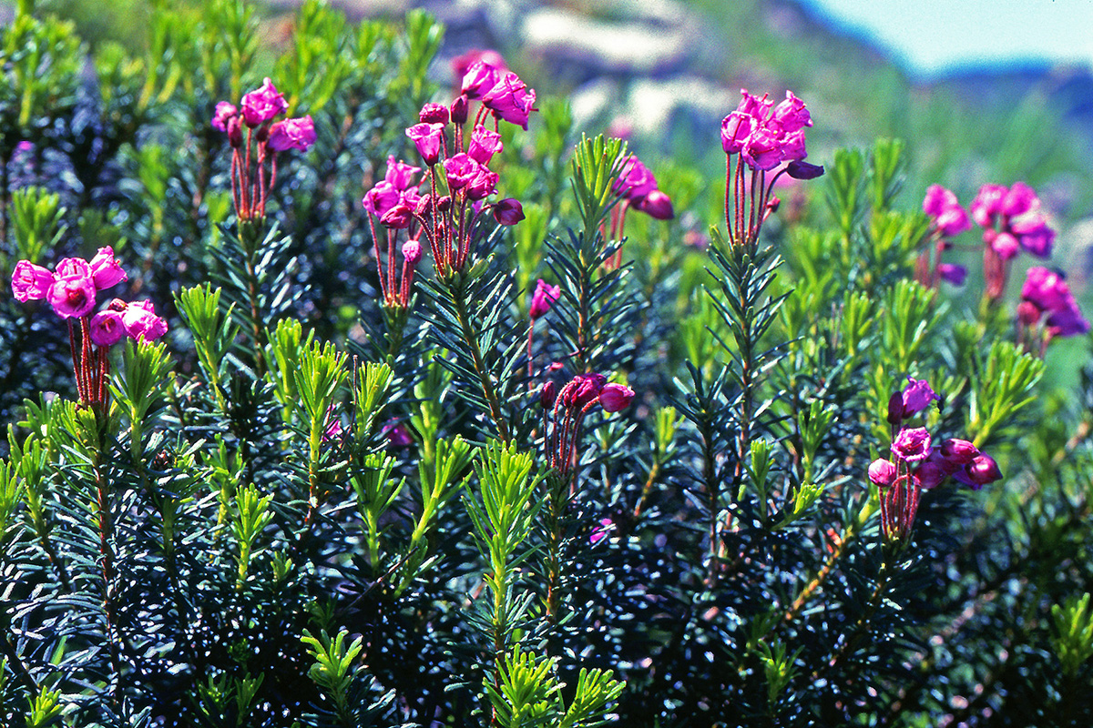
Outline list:
[[[1089,324],[1011,283],[1029,186],[962,306],[956,196],[815,164],[792,92],[705,180],[495,51],[440,89],[420,12],[157,5],[85,77],[2,34],[3,725],[1093,715]]]

